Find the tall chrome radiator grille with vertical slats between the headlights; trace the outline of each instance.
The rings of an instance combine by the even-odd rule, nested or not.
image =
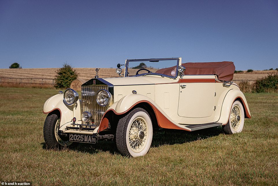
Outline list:
[[[94,85],[81,86],[82,113],[88,111],[92,114],[92,122],[90,125],[99,126],[101,118],[109,106],[101,107],[97,104],[97,92],[100,89],[108,90],[108,86]],[[81,113],[81,114],[82,114]],[[82,121],[82,124],[86,124]],[[91,126],[88,126],[91,127]]]

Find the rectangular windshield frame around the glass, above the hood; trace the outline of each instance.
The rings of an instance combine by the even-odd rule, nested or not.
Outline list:
[[[128,74],[129,74],[129,73],[128,73],[128,63],[129,63],[129,62],[157,61],[157,60],[159,60],[159,61],[177,60],[177,69],[178,69],[178,67],[179,67],[179,58],[127,59],[127,60],[126,60],[126,63],[125,63],[125,77],[129,77],[129,76],[128,76]],[[138,70],[139,70],[139,69],[138,69]],[[160,74],[160,73],[142,73],[142,74],[140,74],[140,75],[138,75],[138,76],[144,76],[144,75],[160,75],[160,76],[162,76],[162,77],[168,77],[168,78],[176,79],[176,78],[178,77],[178,73],[179,73],[179,72],[177,71],[175,77],[174,77],[174,76],[170,76],[170,75],[166,75],[166,74]],[[132,77],[134,77],[134,75],[133,75]]]

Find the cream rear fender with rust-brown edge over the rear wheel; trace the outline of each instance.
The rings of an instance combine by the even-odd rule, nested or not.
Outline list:
[[[244,94],[240,90],[232,89],[226,94],[224,98],[220,119],[218,120],[219,123],[223,123],[224,125],[228,123],[232,104],[236,100],[239,100],[242,103],[242,106],[244,107],[245,118],[251,118],[249,107]]]

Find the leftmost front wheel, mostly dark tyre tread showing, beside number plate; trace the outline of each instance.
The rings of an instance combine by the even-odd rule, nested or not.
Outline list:
[[[59,146],[70,146],[73,142],[64,141],[58,135],[60,128],[60,120],[56,114],[49,114],[45,119],[43,126],[43,136],[47,148],[55,149]]]

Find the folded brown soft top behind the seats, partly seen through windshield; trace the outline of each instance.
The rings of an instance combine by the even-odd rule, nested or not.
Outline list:
[[[186,69],[184,75],[217,75],[218,80],[231,81],[235,72],[235,65],[231,61],[223,62],[200,62],[200,63],[182,63]],[[176,67],[159,69],[156,73],[171,74]]]

